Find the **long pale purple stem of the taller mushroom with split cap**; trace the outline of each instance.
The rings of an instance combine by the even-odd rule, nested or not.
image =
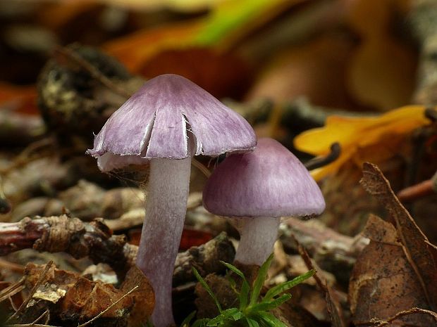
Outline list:
[[[191,158],[150,160],[146,217],[142,226],[137,266],[155,293],[152,323],[174,324],[171,281],[183,231],[190,186]]]

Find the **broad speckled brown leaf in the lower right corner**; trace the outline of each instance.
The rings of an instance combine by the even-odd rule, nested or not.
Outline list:
[[[400,310],[412,307],[429,309],[424,289],[405,256],[405,248],[395,227],[371,215],[363,233],[371,242],[359,255],[350,279],[349,297],[354,323],[374,326],[372,321],[375,319],[385,321]],[[400,320],[421,327],[435,323],[432,317],[421,314]]]

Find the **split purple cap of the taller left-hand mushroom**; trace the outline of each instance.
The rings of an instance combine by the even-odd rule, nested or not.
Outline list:
[[[188,143],[190,134],[194,144]],[[238,113],[189,79],[166,74],[149,79],[116,110],[87,153],[108,171],[144,159],[253,150],[256,144]]]

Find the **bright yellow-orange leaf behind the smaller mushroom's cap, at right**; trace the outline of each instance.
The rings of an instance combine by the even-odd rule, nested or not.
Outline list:
[[[331,115],[324,127],[296,136],[295,147],[312,155],[327,155],[332,143],[340,143],[340,157],[330,165],[312,171],[314,179],[320,180],[337,172],[350,160],[360,165],[364,161],[374,161],[374,158],[376,161],[390,158],[405,145],[403,141],[414,129],[429,124],[424,110],[422,105],[408,105],[376,117]]]

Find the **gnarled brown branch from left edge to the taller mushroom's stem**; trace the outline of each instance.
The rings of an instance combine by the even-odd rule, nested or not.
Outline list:
[[[18,223],[0,223],[0,255],[25,248],[39,252],[67,252],[79,259],[109,264],[123,277],[135,262],[137,248],[125,236],[113,236],[102,219],[84,223],[65,214],[52,217],[26,217]]]

